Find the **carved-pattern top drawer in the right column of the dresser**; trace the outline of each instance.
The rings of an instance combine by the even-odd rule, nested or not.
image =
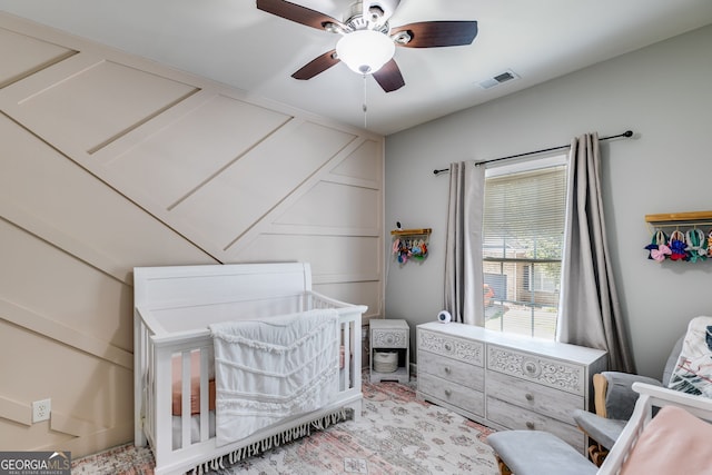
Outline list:
[[[487,369],[580,396],[586,386],[583,366],[495,345],[487,346]]]

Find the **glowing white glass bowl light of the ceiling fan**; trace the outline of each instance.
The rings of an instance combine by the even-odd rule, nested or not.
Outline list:
[[[373,75],[396,52],[393,40],[379,31],[357,30],[344,34],[336,43],[336,56],[350,70]]]

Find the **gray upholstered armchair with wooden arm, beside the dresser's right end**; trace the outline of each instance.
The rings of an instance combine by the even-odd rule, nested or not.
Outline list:
[[[681,337],[670,353],[661,380],[617,372],[603,372],[593,376],[596,412],[594,414],[577,409],[574,413],[574,420],[590,438],[595,441],[589,447],[589,455],[596,465],[600,466],[603,463],[633,413],[639,396],[631,388],[633,383],[641,382],[668,387],[683,339],[684,337]]]

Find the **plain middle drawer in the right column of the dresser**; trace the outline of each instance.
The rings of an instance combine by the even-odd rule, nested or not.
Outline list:
[[[573,424],[574,409],[584,408],[584,397],[541,386],[513,376],[487,374],[487,395],[563,423]]]

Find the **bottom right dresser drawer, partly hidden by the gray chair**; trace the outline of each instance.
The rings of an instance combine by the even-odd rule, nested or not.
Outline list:
[[[513,431],[546,431],[565,441],[581,453],[584,453],[585,449],[585,436],[577,427],[488,395],[487,419]]]

